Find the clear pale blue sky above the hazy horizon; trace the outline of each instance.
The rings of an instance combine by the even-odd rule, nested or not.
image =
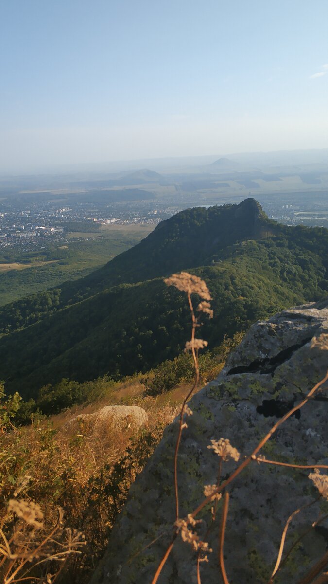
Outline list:
[[[0,172],[328,147],[327,0],[0,0]]]

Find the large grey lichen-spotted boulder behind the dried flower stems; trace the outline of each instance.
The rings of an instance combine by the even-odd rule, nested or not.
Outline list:
[[[207,448],[211,440],[229,439],[242,460],[279,417],[323,378],[328,350],[312,346],[313,337],[322,333],[328,333],[328,300],[285,310],[268,321],[257,322],[217,379],[191,399],[193,415],[183,430],[179,455],[180,517],[191,513],[204,499],[204,485],[217,481],[218,457]],[[261,453],[281,462],[328,464],[327,402],[327,393],[320,391],[278,429]],[[132,486],[92,584],[151,583],[175,522],[173,453],[177,427],[175,421],[166,429],[162,442]],[[237,464],[224,463],[222,477],[227,478]],[[231,584],[268,582],[288,516],[317,498],[309,472],[254,462],[229,485],[224,555]],[[310,528],[320,512],[328,512],[324,503],[327,507],[321,499],[295,516],[285,550]],[[218,513],[221,505],[222,500]],[[210,507],[200,515],[204,519],[204,525],[198,526],[200,534],[207,529],[205,523],[211,523]],[[201,563],[204,584],[222,582],[217,559],[218,529],[217,520],[207,536],[213,552],[208,563]],[[274,582],[296,584],[326,551],[327,536],[326,520],[295,546]],[[197,583],[196,558],[196,552],[179,536],[159,583]]]

